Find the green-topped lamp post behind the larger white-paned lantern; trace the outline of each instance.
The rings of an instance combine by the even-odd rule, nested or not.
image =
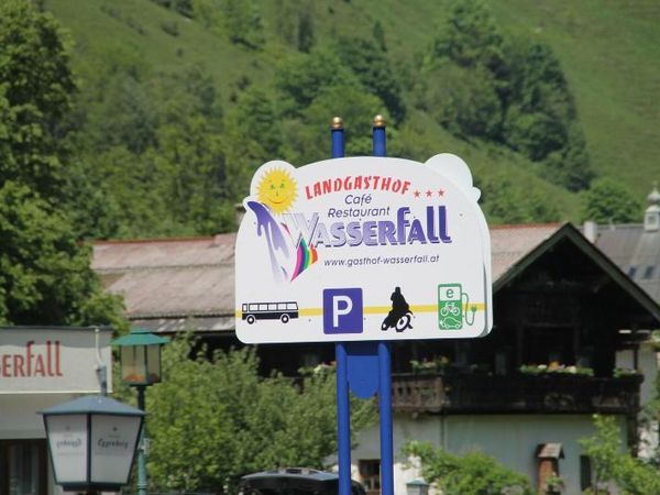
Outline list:
[[[148,330],[134,328],[128,336],[113,340],[120,348],[121,380],[138,391],[138,407],[145,410],[144,391],[161,382],[161,348],[169,340]],[[142,429],[138,452],[138,493],[146,495],[146,428]]]

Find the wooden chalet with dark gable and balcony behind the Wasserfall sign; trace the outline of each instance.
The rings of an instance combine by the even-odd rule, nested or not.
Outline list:
[[[395,446],[421,438],[457,452],[480,448],[541,484],[537,454],[560,444],[553,451],[562,459],[553,462],[569,493],[579,493],[590,475],[576,440],[591,435],[591,415],[616,415],[622,438],[637,437],[640,405],[653,387],[650,332],[660,328],[660,307],[570,223],[496,227],[491,238],[491,334],[393,344]],[[211,349],[229,349],[240,345],[234,240],[97,242],[94,268],[108,290],[124,296],[135,326],[189,329]],[[257,353],[264,373],[289,375],[334,360],[328,344],[260,345]],[[505,427],[520,431],[512,444],[502,440]],[[482,433],[451,440],[449,431]],[[377,493],[374,435],[362,436],[353,459]],[[405,492],[403,464],[397,470]]]

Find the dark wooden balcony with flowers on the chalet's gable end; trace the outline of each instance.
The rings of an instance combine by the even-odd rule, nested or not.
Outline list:
[[[627,414],[639,410],[641,375],[394,374],[399,413]]]

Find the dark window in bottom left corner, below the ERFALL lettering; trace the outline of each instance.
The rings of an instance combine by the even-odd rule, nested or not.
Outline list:
[[[46,495],[45,440],[0,440],[0,495]]]

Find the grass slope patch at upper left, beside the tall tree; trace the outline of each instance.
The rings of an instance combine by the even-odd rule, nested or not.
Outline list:
[[[204,65],[223,98],[241,77],[258,80],[272,72],[260,55],[148,0],[46,0],[45,6],[74,37],[74,66],[102,57],[108,48],[125,46],[136,50],[156,72]],[[164,29],[173,25],[177,35]]]

